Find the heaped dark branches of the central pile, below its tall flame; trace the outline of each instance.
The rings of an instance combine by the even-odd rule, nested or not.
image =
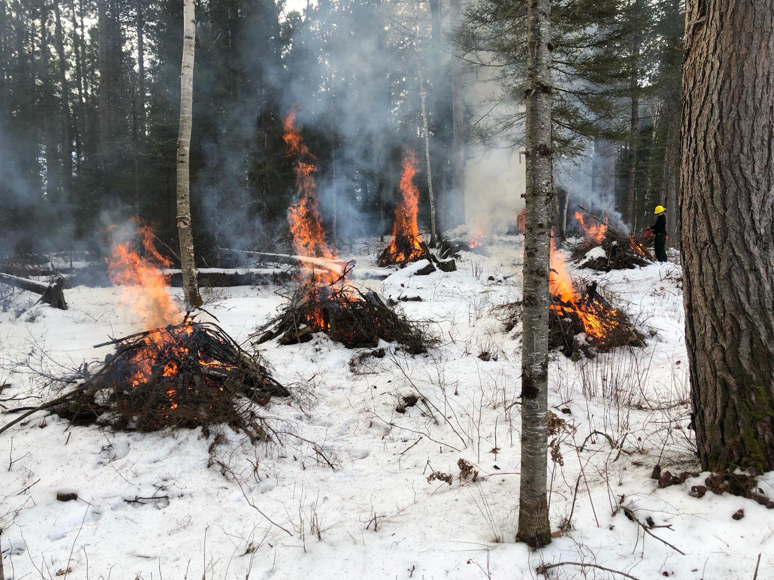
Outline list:
[[[259,326],[255,344],[278,336],[279,344],[306,343],[320,332],[351,349],[375,348],[383,339],[420,354],[432,343],[423,328],[386,305],[376,292],[363,294],[345,284],[306,284],[296,289],[279,316]]]

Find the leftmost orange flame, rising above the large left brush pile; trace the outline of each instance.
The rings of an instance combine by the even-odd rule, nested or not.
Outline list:
[[[109,229],[114,230],[114,227]],[[145,255],[141,258],[137,254],[132,240],[114,240],[108,259],[108,277],[113,284],[124,286],[124,305],[141,316],[148,329],[176,324],[180,319],[179,311],[166,290],[170,276],[161,271],[169,268],[171,262],[156,250],[150,227],[139,226],[137,233],[141,236]]]

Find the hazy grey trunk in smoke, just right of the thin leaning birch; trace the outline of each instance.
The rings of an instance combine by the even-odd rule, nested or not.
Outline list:
[[[460,0],[450,2],[451,27],[461,26]],[[465,223],[465,119],[463,92],[464,67],[457,56],[451,57],[451,192],[447,195],[452,205],[449,227]]]

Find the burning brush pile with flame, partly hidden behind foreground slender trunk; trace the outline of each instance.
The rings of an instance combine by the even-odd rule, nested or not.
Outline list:
[[[559,350],[567,357],[584,353],[609,352],[618,346],[645,346],[645,336],[636,329],[627,314],[614,308],[598,292],[597,282],[577,288],[564,268],[563,255],[551,247],[548,343],[550,350]],[[505,331],[511,332],[522,322],[522,303],[512,302],[498,307]]]

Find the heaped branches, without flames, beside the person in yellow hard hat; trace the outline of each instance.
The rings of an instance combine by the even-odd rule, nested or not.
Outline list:
[[[579,206],[580,207],[580,206]],[[580,208],[595,220],[603,223],[593,213]],[[644,244],[634,239],[632,234],[622,234],[615,228],[605,224],[604,237],[588,239],[574,247],[572,258],[577,262],[578,268],[590,268],[591,270],[609,272],[611,270],[632,270],[638,266],[647,266],[654,262],[654,258]],[[596,247],[601,247],[604,254],[587,257],[588,252]]]

